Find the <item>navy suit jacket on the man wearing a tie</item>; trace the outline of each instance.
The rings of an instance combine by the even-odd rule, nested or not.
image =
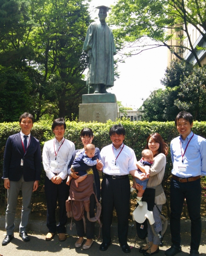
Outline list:
[[[24,160],[21,166],[21,159]],[[19,181],[23,174],[25,181],[40,180],[41,148],[38,139],[31,135],[27,152],[24,156],[20,132],[8,137],[4,151],[3,178]]]

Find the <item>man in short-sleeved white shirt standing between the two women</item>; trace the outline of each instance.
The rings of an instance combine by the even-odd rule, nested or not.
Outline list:
[[[129,174],[136,172],[136,156],[134,151],[124,145],[125,129],[121,124],[113,125],[109,130],[112,144],[100,152],[104,165],[102,180],[102,237],[101,251],[106,251],[111,244],[110,228],[113,208],[118,216],[118,238],[123,252],[129,253],[127,233],[130,211],[130,182]]]

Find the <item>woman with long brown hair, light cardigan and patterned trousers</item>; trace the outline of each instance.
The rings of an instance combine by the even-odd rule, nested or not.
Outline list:
[[[161,182],[164,177],[165,165],[166,165],[166,156],[168,155],[168,145],[163,142],[162,137],[159,133],[153,133],[147,138],[146,149],[150,149],[153,153],[154,161],[150,167],[150,178],[147,183],[147,187],[156,187],[160,188],[160,194],[155,196],[155,206],[153,208],[154,215],[154,228],[155,231],[159,232],[162,230],[162,222],[159,217],[159,210],[162,210],[162,205],[166,203],[166,197],[163,189],[161,188]],[[144,166],[137,162],[137,166],[141,171],[144,171]],[[142,186],[136,185],[138,190],[142,189]],[[159,190],[159,189],[158,189]],[[162,192],[161,192],[162,191]],[[154,236],[152,233],[151,226],[148,225],[148,240],[150,245],[150,250],[148,245],[140,248],[140,252],[145,256],[153,255],[159,252],[160,239],[158,236]]]

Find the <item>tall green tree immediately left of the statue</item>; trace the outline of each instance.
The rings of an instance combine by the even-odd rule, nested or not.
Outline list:
[[[81,95],[86,93],[83,72],[88,57],[82,48],[91,22],[88,4],[82,0],[38,0],[32,2],[31,9],[37,24],[31,33],[33,44],[44,56],[40,105],[52,99],[59,109],[59,116],[71,117],[70,108],[77,109]],[[53,80],[56,81],[54,87]],[[44,96],[45,89],[50,91],[49,95]],[[37,112],[37,117],[40,116],[41,107]]]

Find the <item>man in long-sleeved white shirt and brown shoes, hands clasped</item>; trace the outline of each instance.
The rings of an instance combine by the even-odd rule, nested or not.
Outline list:
[[[64,138],[66,123],[63,118],[54,120],[52,131],[55,138],[44,144],[43,166],[46,172],[45,195],[47,201],[47,227],[49,229],[46,240],[50,241],[58,232],[59,241],[66,240],[66,200],[69,197],[67,182],[67,167],[75,150],[74,143]],[[56,226],[55,211],[58,199],[59,224]]]

